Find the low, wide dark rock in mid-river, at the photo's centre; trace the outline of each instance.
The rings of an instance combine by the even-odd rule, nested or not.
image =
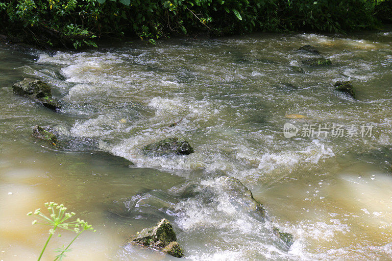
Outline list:
[[[144,152],[157,154],[160,156],[167,154],[189,155],[193,153],[193,148],[184,139],[167,138],[159,142],[148,144],[142,149]]]

